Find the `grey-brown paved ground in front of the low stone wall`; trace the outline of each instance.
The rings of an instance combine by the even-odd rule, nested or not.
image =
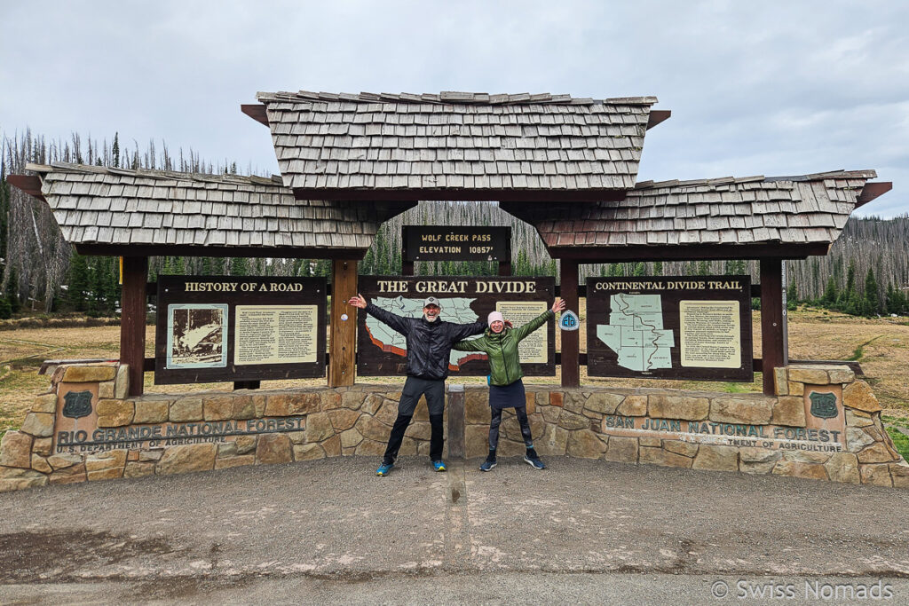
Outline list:
[[[0,601],[686,603],[688,586],[703,603],[721,579],[836,576],[909,602],[909,491],[547,462],[404,458],[377,478],[343,458],[2,493]]]

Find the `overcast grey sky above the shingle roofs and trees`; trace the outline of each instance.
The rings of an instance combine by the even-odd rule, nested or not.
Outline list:
[[[13,2],[0,129],[277,173],[256,91],[647,95],[640,180],[877,170],[909,212],[909,3]]]

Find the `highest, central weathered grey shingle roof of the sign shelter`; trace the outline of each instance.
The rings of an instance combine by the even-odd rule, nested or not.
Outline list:
[[[343,191],[631,189],[656,103],[567,94],[256,96],[285,185]]]

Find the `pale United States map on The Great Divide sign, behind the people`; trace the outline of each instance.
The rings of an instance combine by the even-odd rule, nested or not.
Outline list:
[[[474,310],[470,308],[470,304],[474,303],[474,301],[475,299],[465,299],[463,297],[443,299],[440,318],[444,319],[445,322],[456,324],[474,323],[478,319]],[[419,318],[423,315],[423,299],[405,299],[403,296],[398,296],[394,299],[375,297],[373,303],[391,313],[405,317]],[[382,351],[398,355],[407,354],[407,343],[404,335],[395,332],[371,315],[366,316],[366,330],[369,331],[372,342],[381,348]],[[448,367],[456,371],[465,362],[484,360],[485,358],[486,355],[484,353],[455,352],[452,350],[448,359]]]

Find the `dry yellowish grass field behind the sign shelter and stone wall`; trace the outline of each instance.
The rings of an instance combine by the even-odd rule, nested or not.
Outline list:
[[[582,303],[581,317],[584,319]],[[754,352],[760,355],[760,318],[754,315]],[[581,350],[586,350],[584,330]],[[43,392],[47,377],[37,373],[49,359],[115,358],[119,350],[120,329],[117,326],[77,328],[19,328],[0,331],[0,433],[18,427],[25,418],[35,394]],[[146,355],[153,354],[155,328],[146,333]],[[558,346],[558,340],[556,341]],[[840,313],[802,309],[790,313],[789,355],[796,360],[857,360],[862,364],[865,380],[894,419],[909,418],[909,320],[882,318],[866,320]],[[362,382],[402,382],[399,377],[361,377]],[[484,377],[464,377],[458,382],[481,384]],[[529,377],[525,382],[558,384],[556,377]],[[760,392],[761,375],[751,383],[613,380],[589,378],[581,369],[582,384],[629,387],[673,387],[721,392]],[[280,388],[295,385],[324,385],[325,379],[265,381],[262,387]],[[146,392],[195,392],[229,390],[232,383],[193,385],[155,385],[153,373],[145,373]]]

